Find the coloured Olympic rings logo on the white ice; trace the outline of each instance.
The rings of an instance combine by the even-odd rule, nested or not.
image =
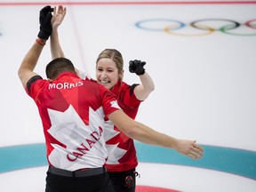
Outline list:
[[[256,19],[243,23],[227,19],[203,19],[188,24],[180,20],[149,19],[140,20],[135,26],[148,31],[164,31],[172,36],[206,36],[213,32],[231,36],[256,36]]]

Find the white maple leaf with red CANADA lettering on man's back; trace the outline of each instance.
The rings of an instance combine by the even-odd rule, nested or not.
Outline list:
[[[64,112],[48,109],[48,113],[52,123],[48,132],[66,146],[63,148],[51,143],[54,149],[48,159],[53,166],[75,171],[84,167],[100,167],[105,163],[107,149],[101,137],[104,129],[102,107],[96,111],[89,108],[89,125],[84,124],[71,105]]]

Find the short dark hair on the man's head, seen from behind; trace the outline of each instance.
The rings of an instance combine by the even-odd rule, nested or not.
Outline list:
[[[60,73],[65,71],[76,73],[73,63],[67,58],[57,58],[52,60],[45,68],[46,76],[49,79],[55,79]]]

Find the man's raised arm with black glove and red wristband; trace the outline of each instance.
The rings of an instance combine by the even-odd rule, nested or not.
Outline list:
[[[51,19],[52,19],[52,8],[51,6],[45,6],[39,15],[40,21],[40,31],[38,33],[38,38],[36,42],[32,45],[28,53],[26,54],[25,58],[22,60],[20,64],[20,68],[18,69],[18,76],[20,77],[21,84],[25,88],[28,80],[32,76],[36,76],[37,74],[34,71],[36,68],[37,60],[40,57],[40,54],[44,48],[44,44],[46,40],[51,36],[52,33],[52,26],[51,26]]]

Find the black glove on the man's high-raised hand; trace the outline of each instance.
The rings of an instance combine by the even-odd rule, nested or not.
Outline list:
[[[38,33],[38,37],[41,39],[47,40],[49,36],[52,34],[52,12],[53,8],[50,5],[44,6],[44,8],[40,11],[39,15],[39,23],[40,23],[40,31]]]

